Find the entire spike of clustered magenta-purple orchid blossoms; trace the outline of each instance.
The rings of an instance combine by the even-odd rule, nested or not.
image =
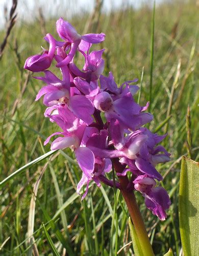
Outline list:
[[[141,193],[146,207],[165,220],[170,199],[158,186],[163,177],[156,166],[169,161],[170,154],[159,145],[166,135],[143,127],[153,115],[147,113],[149,102],[140,106],[134,99],[138,79],[118,87],[111,72],[103,75],[105,49],[92,51],[91,47],[104,41],[104,33],[80,35],[63,18],[57,20],[56,30],[60,41],[47,34],[49,50],[29,57],[24,64],[25,69],[44,73],[34,77],[44,83],[35,100],[43,97],[44,116],[61,130],[48,136],[44,145],[52,140],[51,150],[70,148],[74,152],[82,172],[77,193],[85,188],[82,199],[92,183],[123,189],[120,178],[130,176],[125,189]],[[81,67],[76,61],[79,55],[84,59]],[[115,162],[121,169],[116,168],[120,178],[113,182],[107,173]]]

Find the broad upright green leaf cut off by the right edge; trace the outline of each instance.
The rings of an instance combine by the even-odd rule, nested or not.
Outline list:
[[[185,256],[199,251],[199,163],[182,158],[179,191],[180,234]]]

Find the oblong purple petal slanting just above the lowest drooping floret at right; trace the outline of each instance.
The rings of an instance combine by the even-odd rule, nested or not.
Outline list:
[[[147,174],[148,176],[157,179],[158,181],[163,180],[162,176],[150,162],[147,162],[142,158],[137,158],[135,160],[135,165],[140,170],[140,172]]]

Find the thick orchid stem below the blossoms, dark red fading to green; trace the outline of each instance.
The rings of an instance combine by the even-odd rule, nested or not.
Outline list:
[[[113,159],[113,166],[116,170],[116,173],[121,173],[123,170],[123,166],[119,163],[118,159]],[[138,240],[140,242],[143,255],[144,256],[153,256],[154,252],[148,238],[148,234],[145,229],[145,225],[136,202],[135,195],[133,191],[128,191],[127,186],[129,184],[129,179],[127,176],[118,176],[119,183],[121,185],[120,191],[125,199],[127,207],[129,209],[129,214],[132,219],[132,223],[134,225]]]

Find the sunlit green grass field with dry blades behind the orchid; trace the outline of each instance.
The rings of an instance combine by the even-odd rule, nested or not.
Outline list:
[[[152,12],[146,6],[138,10],[129,7],[110,14],[96,11],[92,17],[85,14],[70,20],[79,33],[106,34],[102,44],[106,49],[104,74],[112,71],[118,85],[139,78],[140,86],[144,71],[141,105],[150,99]],[[155,12],[151,101],[154,121],[150,129],[168,133],[164,146],[171,153],[171,161],[158,168],[164,176],[161,185],[171,198],[166,221],[153,216],[146,209],[142,196],[135,194],[156,255],[163,255],[169,247],[176,255],[181,251],[180,159],[188,155],[199,161],[198,12],[195,1],[180,0],[161,4]],[[47,47],[42,40],[45,31],[56,36],[55,21],[45,20],[44,25],[37,19],[33,24],[16,24],[0,59],[1,181],[49,152],[49,145],[43,147],[43,142],[57,131],[55,125],[43,117],[42,102],[34,101],[41,83],[23,70],[27,57],[39,53],[41,45]],[[4,31],[0,31],[0,38],[1,43]],[[188,106],[190,125],[186,125]],[[191,134],[189,146],[187,134]],[[92,185],[88,196],[81,201],[76,193],[81,170],[72,159],[70,150],[55,152],[29,165],[3,185],[0,190],[0,246],[3,244],[0,254],[31,255],[33,249],[35,255],[37,251],[39,255],[52,255],[53,246],[60,255],[114,254],[114,191],[105,185],[101,188]],[[118,255],[132,255],[129,214],[119,191],[116,196]]]

